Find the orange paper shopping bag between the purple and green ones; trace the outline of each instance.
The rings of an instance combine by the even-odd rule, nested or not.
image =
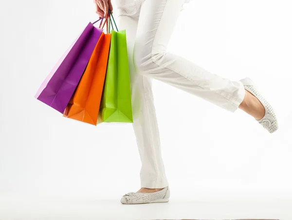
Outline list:
[[[77,89],[64,111],[64,117],[96,126],[107,71],[110,39],[111,34],[101,34]]]

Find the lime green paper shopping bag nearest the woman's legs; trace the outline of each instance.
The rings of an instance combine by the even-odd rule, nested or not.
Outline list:
[[[110,22],[111,20],[114,21],[112,15]],[[114,31],[112,28],[110,32],[110,53],[98,124],[101,122],[133,122],[126,30],[118,31],[117,27],[116,30]]]

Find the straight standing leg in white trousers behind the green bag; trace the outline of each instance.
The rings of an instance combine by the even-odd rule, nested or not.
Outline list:
[[[117,6],[120,11],[117,17],[118,27],[120,30],[126,29],[127,35],[134,119],[133,128],[142,162],[140,172],[141,187],[155,189],[147,190],[147,192],[157,191],[166,187],[168,182],[161,155],[159,130],[151,88],[152,79],[137,74],[133,65],[133,48],[141,4],[123,5],[120,2]],[[146,189],[143,190],[146,192]]]

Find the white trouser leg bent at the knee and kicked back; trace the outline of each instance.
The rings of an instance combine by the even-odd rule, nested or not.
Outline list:
[[[180,56],[166,52],[183,2],[184,0],[144,0],[134,45],[136,71],[234,112],[245,96],[245,89],[240,81],[222,78]]]

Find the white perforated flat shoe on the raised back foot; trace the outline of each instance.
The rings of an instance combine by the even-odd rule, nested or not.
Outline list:
[[[274,110],[267,102],[267,100],[265,100],[263,96],[261,96],[261,94],[257,91],[254,82],[250,78],[244,78],[239,81],[242,82],[244,89],[256,96],[256,98],[260,101],[260,103],[264,106],[266,110],[264,117],[256,121],[265,129],[267,129],[270,133],[276,131],[278,129],[278,121],[275,116]]]

